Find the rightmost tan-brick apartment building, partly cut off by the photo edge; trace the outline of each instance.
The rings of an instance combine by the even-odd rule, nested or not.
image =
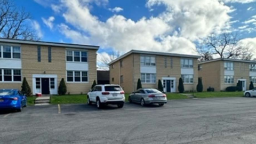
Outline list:
[[[225,91],[228,86],[236,86],[238,81],[242,81],[245,91],[249,89],[250,82],[256,84],[256,61],[214,59],[198,65],[204,91],[209,86],[215,91]]]

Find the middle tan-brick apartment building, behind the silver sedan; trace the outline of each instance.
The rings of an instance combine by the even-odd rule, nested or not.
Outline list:
[[[157,88],[161,79],[165,92],[178,92],[179,78],[183,78],[185,91],[196,90],[198,81],[198,55],[132,50],[109,63],[110,84],[119,84],[126,93],[142,87]]]

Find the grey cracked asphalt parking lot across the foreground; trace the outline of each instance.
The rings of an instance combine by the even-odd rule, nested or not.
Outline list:
[[[0,143],[256,143],[256,98],[172,100],[164,107],[30,106],[0,114]]]

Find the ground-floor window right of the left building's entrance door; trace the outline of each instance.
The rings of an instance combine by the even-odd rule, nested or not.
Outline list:
[[[88,72],[67,71],[67,82],[88,82]]]

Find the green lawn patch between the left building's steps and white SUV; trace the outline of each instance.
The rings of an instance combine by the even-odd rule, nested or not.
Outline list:
[[[87,102],[87,95],[63,95],[63,96],[52,96],[51,104],[80,104]]]

